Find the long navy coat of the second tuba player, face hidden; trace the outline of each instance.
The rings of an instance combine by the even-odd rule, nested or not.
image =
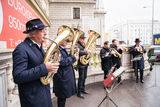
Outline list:
[[[75,73],[72,64],[76,61],[75,56],[68,55],[66,49],[59,47],[61,53],[60,65],[53,77],[54,92],[58,98],[69,98],[76,90]]]

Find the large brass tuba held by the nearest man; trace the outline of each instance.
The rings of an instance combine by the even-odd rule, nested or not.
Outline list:
[[[58,29],[58,36],[55,38],[54,41],[52,41],[46,51],[45,57],[44,57],[44,64],[46,62],[52,61],[52,63],[58,63],[59,58],[59,50],[58,46],[65,40],[72,41],[73,40],[73,31],[68,26],[61,26]],[[52,80],[54,74],[48,72],[47,76],[41,77],[40,81],[42,84],[47,85]]]

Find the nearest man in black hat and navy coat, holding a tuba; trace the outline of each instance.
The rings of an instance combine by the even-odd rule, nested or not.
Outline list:
[[[40,19],[26,23],[28,37],[13,51],[13,79],[18,84],[21,107],[53,107],[50,85],[43,85],[40,78],[48,72],[56,73],[57,64],[43,63],[45,52],[42,43],[47,35]]]

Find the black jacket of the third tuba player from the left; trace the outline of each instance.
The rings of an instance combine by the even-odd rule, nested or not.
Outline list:
[[[77,42],[76,44],[79,48],[79,60],[78,60],[78,68],[84,68],[86,66],[88,66],[89,64],[86,64],[86,65],[83,65],[81,62],[80,62],[80,57],[83,56],[83,55],[87,55],[88,54],[88,51],[84,51],[84,48],[85,48],[85,44],[81,44],[80,42]]]

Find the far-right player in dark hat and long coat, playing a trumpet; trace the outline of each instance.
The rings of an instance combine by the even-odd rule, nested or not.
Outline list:
[[[140,45],[140,42],[141,41],[137,38],[135,40],[136,44],[132,46],[130,49],[130,53],[133,55],[133,58],[137,56],[142,57],[139,61],[133,62],[133,68],[134,68],[135,75],[136,75],[136,83],[138,83],[138,69],[140,70],[140,81],[141,83],[144,83],[144,80],[143,80],[143,69],[144,69],[143,53],[146,53],[146,50],[144,49],[142,45]]]

